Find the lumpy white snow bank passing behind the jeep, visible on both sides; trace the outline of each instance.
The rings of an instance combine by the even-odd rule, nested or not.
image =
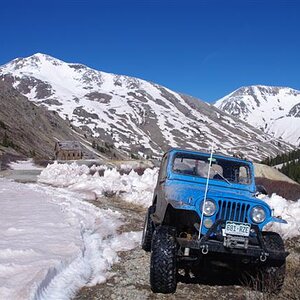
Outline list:
[[[92,167],[92,170],[97,169]],[[42,171],[39,181],[54,186],[67,186],[70,190],[86,193],[86,197],[116,193],[125,201],[147,207],[152,201],[157,175],[158,169],[146,169],[142,176],[134,171],[120,175],[116,169],[105,169],[104,176],[100,177],[98,173],[90,175],[88,167],[74,163],[48,166]],[[274,209],[275,216],[288,221],[288,224],[273,223],[268,226],[269,230],[281,233],[284,238],[300,234],[300,199],[293,202],[273,194],[263,200]]]

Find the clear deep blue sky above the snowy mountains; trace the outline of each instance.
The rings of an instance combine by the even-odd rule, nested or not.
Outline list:
[[[0,65],[36,52],[213,102],[300,90],[300,1],[2,1]]]

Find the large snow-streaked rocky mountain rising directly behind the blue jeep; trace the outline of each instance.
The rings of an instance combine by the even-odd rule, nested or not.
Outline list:
[[[0,67],[0,80],[90,138],[143,156],[169,147],[242,151],[261,160],[292,149],[218,108],[145,80],[37,53]]]

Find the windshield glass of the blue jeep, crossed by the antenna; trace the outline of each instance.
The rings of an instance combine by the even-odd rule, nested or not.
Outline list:
[[[207,178],[210,156],[177,153],[172,165],[174,173]],[[212,157],[209,178],[227,183],[250,184],[249,165],[239,160]]]

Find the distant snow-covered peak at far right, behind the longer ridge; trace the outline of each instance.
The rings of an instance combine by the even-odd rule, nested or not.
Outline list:
[[[276,138],[300,145],[300,91],[261,85],[242,87],[215,106]]]

